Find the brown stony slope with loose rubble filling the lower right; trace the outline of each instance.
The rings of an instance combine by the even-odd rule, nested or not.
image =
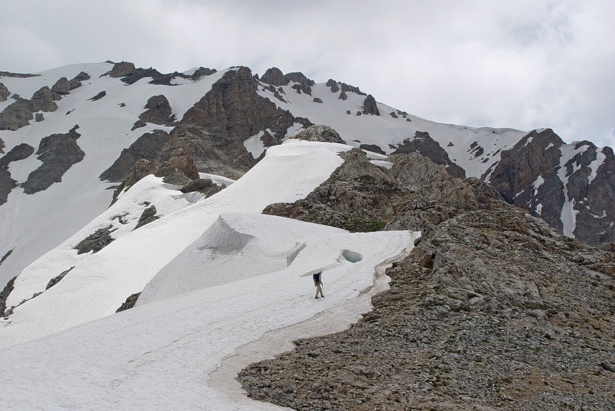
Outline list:
[[[474,179],[451,201],[446,187],[461,181],[426,167],[424,183],[440,189],[423,200],[395,166],[383,171],[408,190],[387,227],[427,220],[391,289],[349,330],[247,367],[248,395],[296,410],[615,410],[615,254],[561,237]],[[341,203],[356,203],[357,184],[333,178],[327,192],[344,187]],[[293,213],[354,215],[312,194]],[[322,212],[303,213],[315,204]]]

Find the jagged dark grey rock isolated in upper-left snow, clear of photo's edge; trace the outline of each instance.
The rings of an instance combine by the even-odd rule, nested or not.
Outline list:
[[[54,182],[62,181],[62,176],[73,164],[83,160],[85,153],[77,145],[77,139],[81,137],[77,128],[79,125],[68,133],[52,134],[41,139],[36,154],[42,165],[28,175],[22,184],[23,192],[34,194],[48,189]]]

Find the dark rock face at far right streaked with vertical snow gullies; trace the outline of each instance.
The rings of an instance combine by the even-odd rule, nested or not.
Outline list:
[[[547,129],[531,131],[503,151],[484,178],[507,202],[544,218],[560,233],[600,245],[615,241],[614,170],[611,148],[589,141],[566,145]]]

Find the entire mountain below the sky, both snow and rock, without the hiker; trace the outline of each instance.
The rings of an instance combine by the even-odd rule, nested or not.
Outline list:
[[[587,384],[582,375],[597,372],[595,392],[615,391],[609,147],[564,144],[550,129],[435,123],[277,68],[163,74],[108,61],[1,72],[0,151],[0,369],[20,387],[0,398],[14,409],[277,409],[244,397],[237,372],[297,337],[343,331],[387,288],[385,272],[392,288],[375,297],[375,313],[317,340],[335,358],[300,343],[277,365],[242,371],[250,396],[295,409],[394,409],[397,394],[426,389],[426,370],[378,403],[349,384],[403,380],[426,362],[408,350],[426,353],[431,339],[437,359],[456,361],[441,343],[463,329],[475,332],[456,337],[457,354],[489,341],[480,356],[504,347],[506,361],[483,380],[451,365],[458,382],[424,391],[424,407],[446,409],[462,394],[476,399],[468,409],[507,401],[499,389],[484,394],[487,380],[503,387],[512,376],[494,372],[543,352],[566,364],[531,368],[558,386],[549,401],[612,399],[554,383]],[[323,300],[311,297],[317,270]],[[494,321],[507,340],[487,335]],[[371,353],[363,371],[339,358],[361,350]],[[333,366],[309,367],[298,383],[304,354]],[[312,386],[323,372],[327,392]],[[452,384],[445,377],[437,386]],[[529,404],[518,409],[547,401],[521,383],[509,393]]]

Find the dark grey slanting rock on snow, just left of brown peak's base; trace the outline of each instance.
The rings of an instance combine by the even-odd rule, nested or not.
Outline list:
[[[137,160],[154,160],[167,141],[169,141],[169,134],[163,130],[154,130],[141,135],[130,144],[130,147],[122,150],[119,158],[111,167],[103,171],[99,178],[113,182],[123,181]]]

